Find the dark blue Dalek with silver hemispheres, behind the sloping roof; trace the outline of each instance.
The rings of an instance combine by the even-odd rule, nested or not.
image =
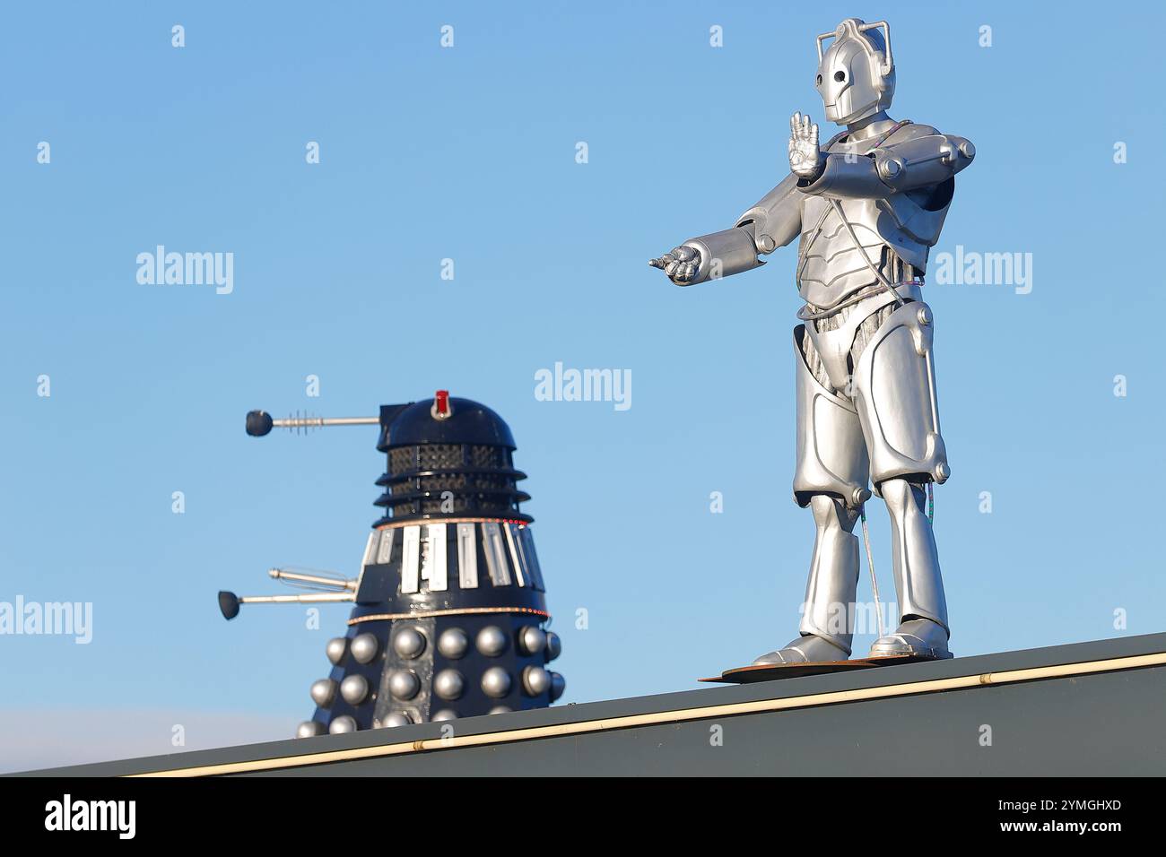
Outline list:
[[[316,710],[297,737],[452,721],[546,708],[566,687],[547,668],[561,641],[548,628],[546,585],[521,511],[510,427],[490,408],[438,391],[382,405],[373,417],[247,414],[247,434],[273,428],[379,424],[372,525],[354,579],[294,568],[268,574],[309,591],[219,592],[232,619],[243,604],[352,602],[347,632],[329,640],[331,672],[311,686]]]

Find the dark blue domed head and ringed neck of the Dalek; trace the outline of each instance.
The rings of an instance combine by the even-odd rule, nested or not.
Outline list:
[[[433,399],[386,405],[377,449],[388,466],[377,484],[385,515],[374,526],[441,518],[504,518],[529,524],[519,505],[514,436],[485,405],[437,391]]]

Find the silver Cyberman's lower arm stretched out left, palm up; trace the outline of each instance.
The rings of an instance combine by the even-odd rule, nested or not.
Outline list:
[[[800,233],[801,198],[798,176],[791,174],[732,229],[690,238],[648,265],[663,269],[677,286],[691,286],[764,265],[758,254],[772,253]]]

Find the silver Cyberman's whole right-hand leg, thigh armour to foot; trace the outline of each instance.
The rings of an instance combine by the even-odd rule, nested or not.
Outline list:
[[[866,343],[855,370],[855,405],[871,478],[891,515],[899,627],[871,655],[950,658],[947,603],[923,486],[948,477],[940,436],[932,312],[913,301],[894,310]]]

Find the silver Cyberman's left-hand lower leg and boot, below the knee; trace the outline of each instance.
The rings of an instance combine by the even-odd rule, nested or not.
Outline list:
[[[858,512],[826,494],[810,499],[817,535],[810,560],[801,635],[753,663],[844,661],[854,639],[854,603],[858,585],[858,539],[850,532]]]

